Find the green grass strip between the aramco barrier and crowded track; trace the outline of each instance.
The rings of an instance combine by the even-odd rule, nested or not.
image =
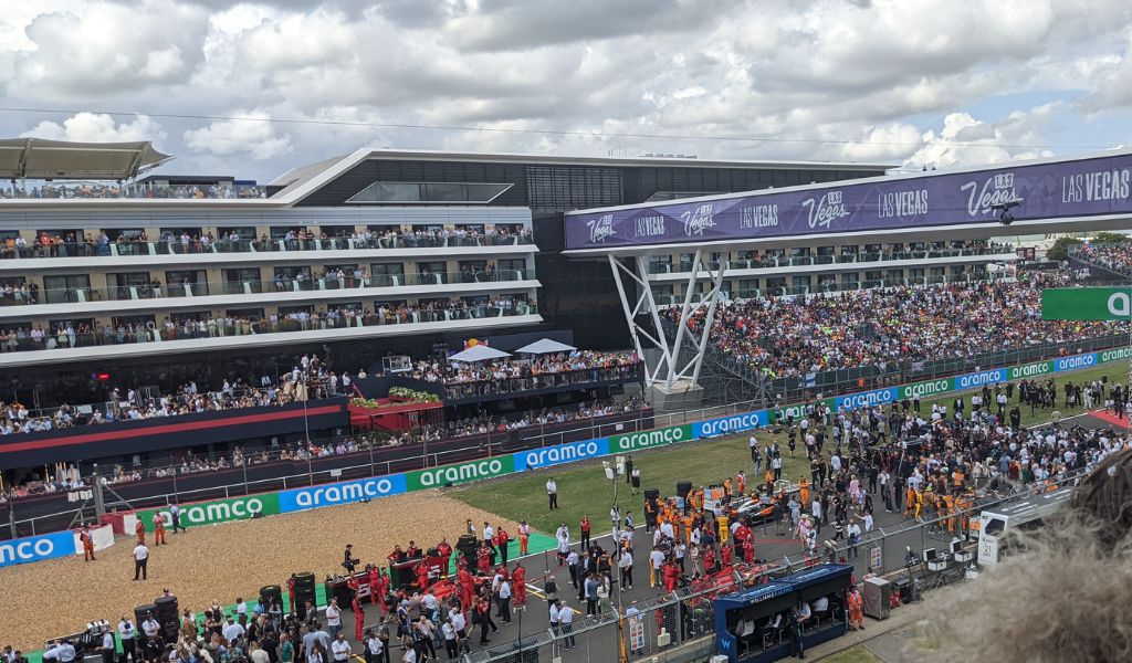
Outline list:
[[[1124,384],[1127,380],[1125,373],[1126,364],[1114,362],[1104,368],[1056,376],[1058,404],[1062,402],[1060,388],[1065,381],[1072,380],[1074,384],[1080,384],[1107,376],[1109,382]],[[974,391],[963,393],[968,414],[970,414],[970,395]],[[923,415],[927,417],[931,414],[934,403],[946,405],[950,413],[957,394],[950,393],[937,398],[924,399],[920,408]],[[1017,401],[1015,386],[1011,405]],[[1075,408],[1058,406],[1055,410],[1062,413],[1063,419],[1084,412],[1084,408],[1080,406]],[[1029,406],[1021,407],[1021,411],[1022,425],[1049,421],[1053,412],[1053,410],[1038,410],[1031,416]],[[786,434],[774,436],[770,431],[763,430],[758,431],[756,436],[761,447],[775,440],[783,453],[788,454]],[[641,487],[642,489],[655,488],[660,490],[662,496],[669,496],[675,493],[678,481],[691,481],[696,487],[722,483],[723,479],[729,475],[734,477],[739,470],[747,472],[748,487],[754,485],[762,481],[762,477],[751,474],[748,437],[749,433],[741,433],[633,454],[634,463],[641,467]],[[829,453],[831,442],[829,438],[826,439],[826,453]],[[609,458],[607,457],[607,459]],[[806,462],[805,448],[800,439],[796,458],[790,458],[787,455],[783,460],[783,479],[797,482],[801,475],[809,477],[809,464]],[[550,511],[547,508],[546,482],[548,476],[554,476],[558,483],[559,509],[557,511]],[[609,508],[614,502],[614,489],[611,482],[604,477],[600,460],[524,472],[515,476],[456,487],[449,489],[448,494],[473,507],[514,520],[525,519],[531,524],[531,527],[542,532],[554,532],[561,523],[565,523],[574,532],[577,529],[577,523],[582,515],[589,514],[590,520],[594,524],[594,533],[606,533],[609,531]],[[617,496],[623,515],[626,510],[632,510],[636,522],[643,523],[644,498],[642,496],[631,497],[629,485],[625,483],[624,477],[618,481]]]

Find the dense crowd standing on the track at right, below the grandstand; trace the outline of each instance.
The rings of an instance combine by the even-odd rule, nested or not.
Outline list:
[[[788,417],[787,449],[760,448],[751,437],[752,463],[765,463],[767,481],[779,479],[775,459],[801,446],[809,477],[798,477],[800,494],[783,500],[777,514],[811,554],[857,557],[863,535],[874,527],[875,508],[934,523],[949,534],[970,532],[969,510],[981,494],[1011,494],[1024,487],[1049,487],[1084,472],[1130,446],[1124,432],[1063,427],[1065,407],[1104,404],[1123,413],[1129,393],[1118,384],[1022,380],[987,385],[950,406],[923,408],[919,398],[889,406],[831,411],[809,404]],[[1021,425],[1022,410],[1048,412],[1044,428]],[[832,536],[818,546],[822,527]],[[830,532],[830,531],[827,531]]]

